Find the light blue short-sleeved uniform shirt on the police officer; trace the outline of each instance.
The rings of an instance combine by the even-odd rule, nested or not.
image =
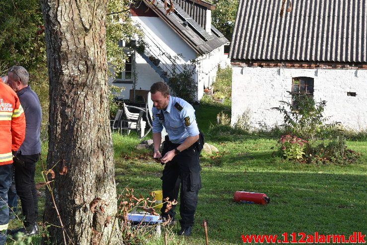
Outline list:
[[[164,127],[168,133],[169,140],[174,144],[181,144],[189,136],[199,135],[195,109],[190,103],[181,98],[170,95],[167,108],[165,110],[157,110],[153,107],[152,113],[153,133],[162,132]]]

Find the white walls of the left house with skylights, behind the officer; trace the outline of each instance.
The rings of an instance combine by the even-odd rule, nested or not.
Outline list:
[[[161,50],[171,56],[181,54],[183,59],[179,58],[177,60],[178,64],[184,64],[190,60],[197,59],[199,65],[197,66],[197,74],[194,79],[198,82],[197,97],[199,99],[203,96],[204,85],[210,86],[212,82],[215,81],[218,64],[220,63],[221,67],[228,65],[228,59],[223,55],[224,45],[213,50],[207,55],[198,57],[196,52],[159,17],[132,16],[131,18],[136,23],[140,24],[146,35],[146,42],[150,44],[151,48],[157,51],[157,48],[154,48],[154,46],[158,46]],[[170,61],[164,55],[160,56],[159,59],[163,63],[170,63]],[[163,79],[159,77],[153,68],[151,68],[150,65],[138,53],[136,54],[136,73],[138,75],[136,85],[137,90],[149,90],[152,83],[158,81],[163,82]],[[133,84],[114,83],[114,85],[125,87],[125,90],[122,91],[121,95],[119,96],[120,98],[129,98],[130,89],[133,89]]]

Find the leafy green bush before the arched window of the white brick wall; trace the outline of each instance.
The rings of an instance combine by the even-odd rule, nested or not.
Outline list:
[[[293,99],[294,104],[281,101],[283,105],[275,109],[284,115],[285,126],[293,135],[299,135],[305,140],[304,153],[303,150],[296,149],[294,143],[298,138],[295,136],[291,139],[294,146],[281,145],[281,151],[285,155],[292,155],[293,157],[288,157],[290,160],[297,161],[303,159],[299,155],[304,154],[304,163],[354,163],[359,154],[347,149],[343,130],[336,123],[325,124],[327,118],[323,116],[323,111],[326,101],[315,102],[305,94],[294,95]],[[284,138],[281,141],[284,141]],[[300,146],[303,147],[303,144]]]

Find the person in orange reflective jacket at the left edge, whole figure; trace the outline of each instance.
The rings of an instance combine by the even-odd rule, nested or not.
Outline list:
[[[7,191],[13,173],[13,152],[24,141],[25,116],[16,93],[0,78],[0,245],[6,242],[9,223]]]

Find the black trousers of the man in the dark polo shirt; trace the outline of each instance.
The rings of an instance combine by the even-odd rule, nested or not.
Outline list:
[[[25,216],[24,226],[34,225],[38,216],[38,198],[34,174],[39,154],[17,155],[14,158],[15,186],[19,196],[22,212]]]

